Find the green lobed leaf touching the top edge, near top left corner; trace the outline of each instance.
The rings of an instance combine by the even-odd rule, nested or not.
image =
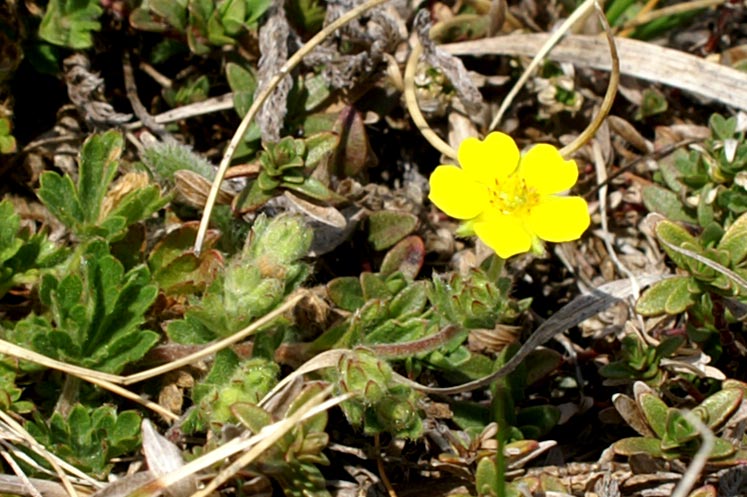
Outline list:
[[[39,26],[39,36],[73,50],[91,48],[91,33],[101,29],[98,18],[102,13],[99,0],[50,0]]]

